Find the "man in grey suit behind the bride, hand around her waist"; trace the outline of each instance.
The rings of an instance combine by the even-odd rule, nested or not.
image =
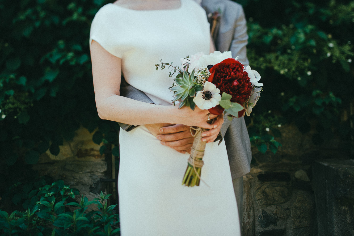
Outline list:
[[[215,42],[217,51],[231,51],[235,58],[239,56],[238,61],[248,65],[246,56],[246,45],[248,40],[246,19],[242,6],[230,0],[196,0],[205,9],[209,18],[212,38]],[[152,101],[143,92],[128,85],[122,81],[120,95],[142,102],[152,103]],[[135,126],[119,123],[122,129],[130,131]],[[189,127],[177,124],[161,128],[162,132],[154,132],[161,144],[171,146],[180,152],[181,147],[188,146],[193,138]],[[172,134],[171,134],[172,133]],[[243,175],[250,171],[251,163],[251,145],[247,133],[245,120],[243,117],[234,118],[229,121],[224,116],[224,123],[217,140],[225,140],[227,154],[229,157],[230,170],[233,179],[236,201],[239,209],[240,226],[242,228],[242,194],[243,194]],[[186,143],[189,142],[189,143]],[[192,145],[190,145],[192,146]],[[187,149],[187,148],[186,148]],[[189,148],[190,149],[190,148]]]

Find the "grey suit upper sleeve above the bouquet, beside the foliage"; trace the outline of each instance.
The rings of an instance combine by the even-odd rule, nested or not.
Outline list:
[[[240,56],[238,61],[247,66],[250,64],[246,50],[246,45],[248,43],[247,25],[243,8],[242,6],[239,7],[239,15],[235,21],[235,31],[231,41],[230,51],[232,52],[232,57],[235,58],[236,56]]]

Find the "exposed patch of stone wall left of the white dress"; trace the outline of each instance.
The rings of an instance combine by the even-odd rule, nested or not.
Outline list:
[[[98,197],[101,190],[104,192],[106,188],[100,178],[105,178],[107,163],[104,155],[99,154],[100,145],[92,141],[94,132],[89,133],[81,127],[71,142],[64,141],[64,145],[59,146],[59,155],[54,156],[47,150],[33,169],[41,175],[63,179],[71,188],[79,189],[89,201]]]

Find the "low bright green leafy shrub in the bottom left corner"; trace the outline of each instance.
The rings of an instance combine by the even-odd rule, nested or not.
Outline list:
[[[81,196],[74,200],[78,190],[70,189],[62,180],[45,185],[38,190],[39,201],[25,212],[14,211],[10,215],[0,210],[0,234],[2,235],[60,235],[99,236],[119,235],[119,216],[114,213],[116,205],[108,206],[104,195],[93,201]],[[71,199],[71,200],[70,200]],[[90,205],[99,211],[89,211]]]

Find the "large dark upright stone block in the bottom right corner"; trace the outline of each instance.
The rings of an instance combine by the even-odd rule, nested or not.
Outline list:
[[[321,236],[354,235],[354,160],[322,160],[312,167]]]

